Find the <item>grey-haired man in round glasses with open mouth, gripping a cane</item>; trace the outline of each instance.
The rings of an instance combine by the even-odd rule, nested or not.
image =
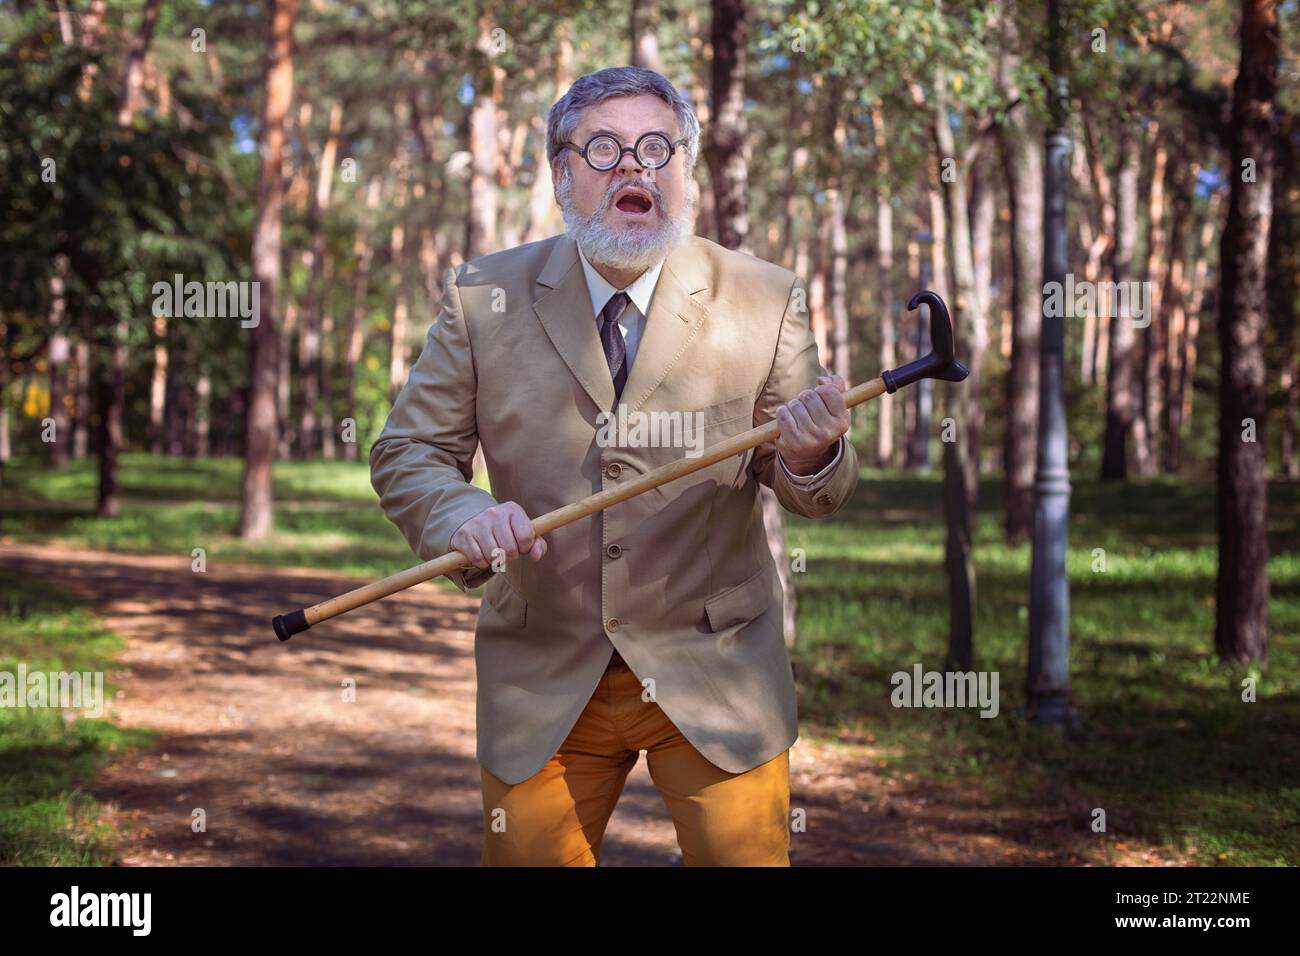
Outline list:
[[[482,862],[597,865],[645,750],[684,864],[788,866],[798,722],[758,485],[810,518],[844,505],[846,385],[792,272],[690,234],[699,124],[664,77],[582,77],[546,146],[566,234],[448,271],[370,451],[416,553],[456,549],[456,587],[488,583]],[[775,418],[780,437],[538,537],[529,515],[689,454],[606,440],[614,414],[694,423],[705,445]],[[491,494],[471,484],[478,445]]]

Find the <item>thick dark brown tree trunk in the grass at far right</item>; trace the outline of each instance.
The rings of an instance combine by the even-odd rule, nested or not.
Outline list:
[[[1232,190],[1219,252],[1218,587],[1214,648],[1223,661],[1269,658],[1268,252],[1273,220],[1277,0],[1243,0],[1232,87]],[[1243,182],[1253,165],[1253,182]],[[1253,424],[1254,433],[1247,434]]]

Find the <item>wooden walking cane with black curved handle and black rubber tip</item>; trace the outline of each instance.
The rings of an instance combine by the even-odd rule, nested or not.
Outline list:
[[[844,403],[848,407],[852,408],[863,402],[870,402],[872,398],[887,392],[894,393],[920,378],[962,381],[970,375],[970,369],[953,358],[953,324],[948,316],[948,307],[944,304],[944,300],[928,290],[916,293],[911,302],[907,303],[909,311],[916,308],[920,303],[927,303],[931,311],[930,354],[923,355],[915,362],[909,362],[902,368],[881,372],[879,378],[872,378],[868,382],[849,389],[844,393]],[[637,479],[620,484],[618,488],[607,488],[572,505],[555,509],[541,518],[534,518],[533,532],[540,536],[546,535],[555,531],[555,528],[562,528],[580,518],[593,515],[611,505],[634,498],[642,492],[649,492],[651,488],[658,488],[673,479],[690,475],[701,468],[707,468],[710,464],[715,464],[724,458],[731,458],[763,442],[772,441],[779,433],[780,427],[776,419],[772,419],[764,425],[751,428],[748,432],[708,446],[698,458],[682,458],[670,462]],[[421,581],[428,581],[439,575],[451,574],[467,567],[472,568],[474,564],[464,554],[460,551],[447,551],[433,561],[408,567],[406,571],[399,571],[395,575],[373,581],[356,591],[350,591],[346,594],[332,597],[329,601],[290,611],[289,614],[280,614],[270,623],[276,628],[276,636],[282,641],[287,641],[295,633],[306,631],[312,624],[337,618],[339,614],[355,610],[372,601],[378,601],[381,597],[395,594]]]

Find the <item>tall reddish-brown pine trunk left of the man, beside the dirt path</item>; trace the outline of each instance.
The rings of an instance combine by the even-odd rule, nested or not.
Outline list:
[[[243,501],[239,533],[261,538],[272,525],[270,466],[276,458],[280,423],[276,416],[276,377],[280,371],[280,234],[285,202],[282,163],[285,116],[294,99],[294,20],[298,0],[272,0],[272,52],[266,65],[257,177],[257,219],[252,239],[254,281],[260,284],[257,325],[248,342],[248,415],[244,440]]]

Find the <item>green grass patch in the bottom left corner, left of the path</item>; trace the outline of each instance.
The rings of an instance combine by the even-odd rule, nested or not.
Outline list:
[[[0,581],[0,672],[104,672],[122,641],[83,609],[34,579]],[[0,864],[100,866],[113,861],[116,834],[86,792],[120,752],[152,735],[105,717],[74,718],[58,708],[0,708]]]

